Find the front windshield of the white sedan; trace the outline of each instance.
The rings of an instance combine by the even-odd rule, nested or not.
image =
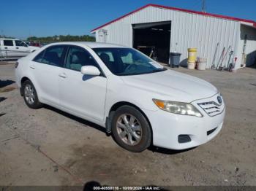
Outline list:
[[[113,74],[118,76],[165,71],[159,63],[132,48],[94,48],[94,52]]]

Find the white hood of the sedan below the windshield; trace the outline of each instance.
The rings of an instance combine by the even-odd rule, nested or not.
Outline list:
[[[203,79],[169,69],[151,74],[123,76],[121,79],[127,85],[156,93],[160,98],[169,98],[170,101],[192,102],[218,93],[216,87]]]

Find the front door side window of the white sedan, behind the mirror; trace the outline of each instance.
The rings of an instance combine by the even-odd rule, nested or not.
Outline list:
[[[97,66],[91,54],[80,47],[70,47],[66,68],[80,71],[82,66]]]

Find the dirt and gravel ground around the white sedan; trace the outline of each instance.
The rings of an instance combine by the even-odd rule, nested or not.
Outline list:
[[[104,129],[45,106],[29,109],[14,65],[0,65],[0,185],[255,185],[256,69],[189,71],[211,82],[227,104],[212,141],[176,152],[127,152]]]

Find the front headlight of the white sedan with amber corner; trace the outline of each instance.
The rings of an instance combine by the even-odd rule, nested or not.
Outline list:
[[[153,99],[153,101],[159,109],[165,110],[166,112],[203,117],[203,114],[201,114],[192,104],[177,101],[162,101],[157,99]]]

